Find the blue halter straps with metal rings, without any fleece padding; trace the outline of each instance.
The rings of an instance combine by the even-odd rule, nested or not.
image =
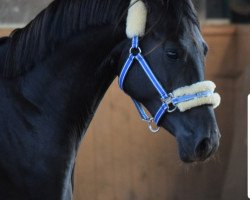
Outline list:
[[[142,56],[141,49],[139,47],[139,38],[137,36],[133,37],[132,39],[132,47],[130,48],[130,51],[129,51],[129,57],[126,63],[124,64],[120,77],[119,77],[119,86],[122,90],[123,90],[125,78],[134,60],[137,60],[139,62],[140,66],[146,73],[147,77],[149,78],[149,80],[151,81],[155,89],[158,91],[158,93],[160,94],[162,105],[160,106],[160,108],[158,109],[154,117],[149,117],[147,113],[145,112],[145,110],[143,109],[141,103],[139,103],[137,100],[131,97],[141,116],[141,119],[148,123],[149,129],[153,133],[158,132],[159,127],[153,128],[152,124],[155,123],[158,126],[163,115],[166,112],[167,113],[174,112],[177,109],[177,104],[181,102],[186,102],[186,101],[190,101],[193,99],[201,98],[201,97],[207,97],[213,94],[213,92],[211,91],[204,91],[204,92],[199,92],[199,93],[192,94],[192,95],[184,95],[181,97],[174,97],[172,93],[168,94],[164,90],[160,82],[157,80],[152,70],[150,69],[149,65],[147,64],[146,60]]]

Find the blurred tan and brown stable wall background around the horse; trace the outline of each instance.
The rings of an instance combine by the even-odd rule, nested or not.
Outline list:
[[[51,0],[0,0],[0,36],[23,27]],[[76,200],[247,199],[247,95],[250,89],[250,1],[194,0],[209,45],[206,78],[222,95],[217,155],[185,165],[175,138],[151,135],[130,99],[112,84],[82,142]]]

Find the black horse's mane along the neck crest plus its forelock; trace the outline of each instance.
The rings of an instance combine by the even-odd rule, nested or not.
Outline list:
[[[143,0],[150,10],[163,5],[161,15],[174,9],[181,20],[186,16],[198,25],[191,0]],[[57,45],[87,27],[124,24],[130,0],[55,0],[26,27],[14,30],[8,40],[4,77],[16,77],[30,70],[52,53]],[[166,14],[165,14],[166,15]],[[157,23],[157,22],[155,22]]]

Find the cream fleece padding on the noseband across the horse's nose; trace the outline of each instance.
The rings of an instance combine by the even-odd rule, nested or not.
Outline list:
[[[216,85],[212,81],[203,81],[195,83],[191,86],[185,86],[179,88],[173,92],[175,97],[180,97],[184,95],[196,94],[204,91],[214,92]],[[221,97],[218,93],[213,93],[208,97],[196,98],[190,101],[182,102],[177,105],[181,112],[189,110],[191,108],[201,106],[201,105],[213,105],[213,108],[217,108],[220,105]]]

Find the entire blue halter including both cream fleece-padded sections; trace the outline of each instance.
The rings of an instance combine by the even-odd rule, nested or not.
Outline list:
[[[153,84],[154,88],[158,91],[160,95],[159,98],[161,100],[161,106],[159,107],[154,117],[150,117],[147,115],[140,102],[138,102],[134,98],[132,98],[132,100],[141,116],[141,119],[148,123],[148,127],[151,132],[156,133],[160,129],[158,125],[164,114],[175,112],[177,109],[179,109],[180,112],[184,112],[188,109],[205,104],[211,104],[214,108],[216,108],[220,104],[220,96],[219,94],[214,93],[215,84],[211,81],[198,82],[191,86],[179,88],[172,93],[167,93],[165,91],[161,83],[155,77],[145,58],[143,57],[142,50],[139,47],[138,36],[143,36],[145,32],[147,15],[147,12],[145,10],[146,7],[142,1],[131,0],[131,7],[129,9],[127,18],[126,32],[127,36],[129,38],[132,38],[132,45],[129,50],[129,57],[125,62],[119,76],[119,86],[123,90],[126,76],[133,63],[137,61],[149,78],[150,82]],[[139,15],[139,17],[138,13],[141,14]],[[134,24],[132,19],[137,19],[139,23],[137,21],[137,23]],[[156,128],[153,127],[153,124],[155,124]]]

